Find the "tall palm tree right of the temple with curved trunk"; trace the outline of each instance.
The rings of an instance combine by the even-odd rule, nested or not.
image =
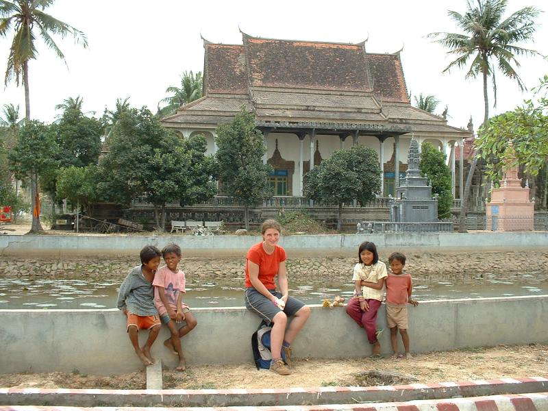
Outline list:
[[[488,77],[492,77],[493,80],[494,105],[496,105],[495,69],[498,68],[503,75],[516,80],[519,88],[524,90],[525,86],[514,68],[520,65],[516,55],[537,54],[536,51],[524,49],[516,43],[532,39],[536,30],[534,18],[538,16],[539,11],[533,7],[525,7],[503,18],[506,5],[507,0],[477,0],[477,6],[474,6],[469,0],[468,10],[464,15],[453,11],[448,12],[465,34],[443,32],[429,34],[431,37],[438,38],[436,42],[449,49],[447,53],[458,56],[443,72],[449,72],[454,66],[462,69],[472,59],[466,77],[482,76],[485,108],[483,126],[489,118]],[[466,212],[476,164],[477,155],[474,156],[466,177],[460,206],[459,232],[466,232]]]

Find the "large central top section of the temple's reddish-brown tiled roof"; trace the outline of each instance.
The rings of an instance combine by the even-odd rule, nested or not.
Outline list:
[[[243,38],[251,86],[371,90],[362,45]]]

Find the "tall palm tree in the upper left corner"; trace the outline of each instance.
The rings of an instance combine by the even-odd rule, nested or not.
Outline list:
[[[61,38],[72,34],[77,44],[81,44],[84,48],[88,46],[84,33],[44,12],[54,1],[0,0],[0,36],[7,36],[12,27],[14,31],[4,83],[7,86],[12,79],[15,79],[16,85],[19,86],[20,79],[23,79],[25,119],[27,120],[30,120],[29,61],[38,55],[36,38],[42,38],[45,45],[64,62],[64,54],[55,44],[51,34],[58,34]]]

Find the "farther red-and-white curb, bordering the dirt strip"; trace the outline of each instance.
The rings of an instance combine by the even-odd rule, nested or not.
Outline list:
[[[534,398],[546,395],[548,379],[530,377],[519,379],[495,379],[490,381],[441,382],[438,384],[412,384],[410,386],[375,387],[324,387],[288,388],[264,390],[67,390],[36,388],[0,388],[0,403],[9,406],[48,404],[55,406],[125,406],[125,407],[279,407],[329,406],[329,404],[353,404],[371,407],[372,403],[398,401],[397,405],[434,406],[448,403],[474,403],[474,397],[497,395],[481,401],[503,400],[508,403],[534,403]],[[504,395],[512,393],[512,395]],[[525,394],[523,396],[519,394]],[[455,397],[460,397],[455,399]],[[464,398],[463,398],[464,397]],[[513,398],[513,399],[512,399]],[[516,400],[516,398],[520,398]],[[447,399],[450,399],[449,401]],[[528,400],[527,400],[528,399]],[[544,398],[548,405],[548,398]],[[382,404],[375,404],[380,406]],[[386,404],[385,404],[386,405]],[[345,406],[350,407],[350,406]],[[280,409],[280,408],[275,408]],[[281,408],[285,409],[285,408]],[[340,408],[318,408],[340,409]],[[363,409],[363,408],[360,408]],[[369,408],[365,408],[368,409]],[[372,408],[375,409],[375,408]],[[382,408],[380,408],[382,409]],[[392,408],[394,409],[394,408]],[[419,408],[421,409],[421,408]],[[432,410],[432,408],[427,408]],[[447,408],[445,408],[447,409]],[[449,408],[451,409],[451,408]],[[482,408],[496,410],[497,408]],[[503,408],[499,408],[503,409]],[[547,408],[519,408],[519,410],[546,410]],[[415,408],[410,408],[415,410]],[[512,408],[513,410],[513,408]]]

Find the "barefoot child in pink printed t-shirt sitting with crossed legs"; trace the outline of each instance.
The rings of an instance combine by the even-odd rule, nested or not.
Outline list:
[[[186,360],[181,347],[181,338],[188,334],[197,325],[197,321],[190,312],[190,308],[183,303],[185,292],[185,275],[179,270],[181,261],[181,247],[169,244],[162,249],[162,257],[166,265],[162,266],[154,277],[154,302],[160,319],[166,324],[171,337],[164,341],[164,345],[179,356],[177,371],[186,369]],[[180,329],[178,323],[186,322]]]

